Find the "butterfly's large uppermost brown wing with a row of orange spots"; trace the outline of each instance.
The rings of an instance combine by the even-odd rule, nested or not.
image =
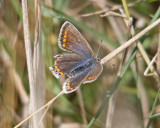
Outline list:
[[[83,58],[93,57],[93,51],[88,42],[68,21],[61,27],[58,44],[61,49],[79,54]]]

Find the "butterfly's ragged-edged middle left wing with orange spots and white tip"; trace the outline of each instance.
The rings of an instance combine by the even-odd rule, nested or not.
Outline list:
[[[79,65],[83,58],[78,54],[59,54],[55,57],[55,63],[49,67],[56,78],[61,77],[63,74],[69,74],[77,65]]]

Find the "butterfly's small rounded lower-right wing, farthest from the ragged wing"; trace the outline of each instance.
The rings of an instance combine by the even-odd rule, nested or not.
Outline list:
[[[102,64],[96,61],[95,64],[92,66],[92,68],[89,70],[87,78],[83,83],[90,83],[95,81],[101,74],[102,70],[103,70]]]

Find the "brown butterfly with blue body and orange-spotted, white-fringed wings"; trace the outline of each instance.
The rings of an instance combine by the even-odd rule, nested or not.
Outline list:
[[[68,79],[63,84],[64,93],[75,91],[82,83],[90,83],[97,79],[103,70],[99,58],[74,25],[66,21],[58,39],[59,47],[70,53],[54,56],[54,65],[49,67],[56,78],[66,74]]]

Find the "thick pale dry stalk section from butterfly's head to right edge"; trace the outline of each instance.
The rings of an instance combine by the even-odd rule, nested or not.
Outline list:
[[[121,45],[120,47],[118,47],[117,49],[115,49],[113,52],[111,52],[109,55],[105,56],[102,60],[101,60],[101,64],[106,63],[107,61],[113,59],[114,57],[116,57],[120,52],[122,52],[124,49],[126,49],[127,47],[129,47],[131,44],[135,43],[135,41],[137,41],[139,38],[141,38],[144,34],[146,34],[148,31],[150,31],[151,29],[153,29],[155,26],[157,26],[158,24],[160,24],[160,18],[157,19],[155,22],[153,22],[151,25],[149,25],[148,27],[146,27],[145,29],[143,29],[141,32],[139,32],[137,35],[135,35],[134,37],[132,37],[130,40],[128,40],[126,43],[124,43],[123,45]]]

